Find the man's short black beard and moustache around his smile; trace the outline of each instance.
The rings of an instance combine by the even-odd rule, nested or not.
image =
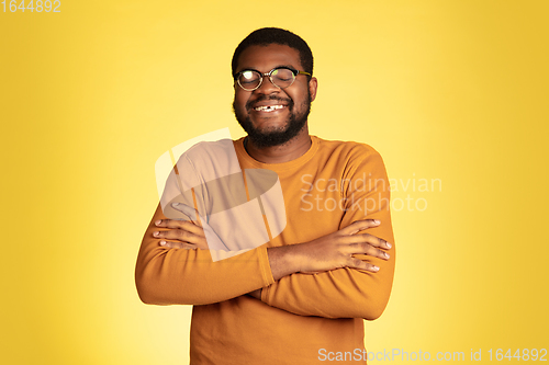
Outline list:
[[[233,112],[235,113],[238,124],[248,134],[249,140],[251,140],[254,146],[256,146],[257,148],[280,146],[288,142],[303,129],[303,127],[307,122],[309,113],[311,113],[311,92],[309,90],[307,90],[307,98],[305,102],[301,105],[304,109],[304,112],[301,114],[294,113],[295,105],[293,103],[293,100],[291,99],[282,99],[276,95],[271,96],[264,95],[264,98],[259,98],[254,102],[256,103],[265,100],[276,100],[288,103],[290,117],[288,118],[284,126],[269,130],[259,130],[258,128],[254,127],[249,114],[244,116],[236,109],[235,102],[233,102]],[[250,109],[251,105],[249,103],[246,103],[246,110]]]

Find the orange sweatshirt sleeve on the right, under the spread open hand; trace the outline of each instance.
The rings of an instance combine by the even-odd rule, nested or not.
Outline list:
[[[337,269],[318,274],[292,274],[282,277],[261,292],[261,300],[301,316],[325,318],[363,318],[381,316],[391,294],[394,275],[395,244],[390,214],[390,187],[381,156],[370,149],[366,157],[351,167],[347,181],[369,175],[368,189],[343,190],[346,202],[339,228],[360,219],[379,219],[381,225],[366,232],[392,243],[391,258],[385,261],[368,255],[356,255],[380,267],[377,273],[355,269]],[[356,187],[356,186],[355,186]],[[359,208],[359,207],[362,207]],[[366,207],[366,208],[363,208]]]

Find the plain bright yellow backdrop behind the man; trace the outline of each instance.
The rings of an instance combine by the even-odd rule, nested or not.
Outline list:
[[[313,49],[312,134],[372,145],[403,184],[441,181],[393,194],[428,206],[393,212],[393,295],[366,323],[367,347],[468,361],[482,349],[486,363],[489,349],[549,349],[548,4],[65,0],[57,14],[0,12],[1,362],[188,362],[190,308],[146,306],[133,281],[154,163],[201,134],[243,136],[229,62],[261,26]]]

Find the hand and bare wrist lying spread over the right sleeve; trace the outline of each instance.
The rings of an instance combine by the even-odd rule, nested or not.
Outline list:
[[[365,233],[368,228],[378,227],[379,220],[358,220],[334,233],[313,241],[283,247],[269,248],[269,263],[274,280],[293,273],[317,273],[340,267],[360,269],[378,272],[379,267],[365,262],[355,254],[367,254],[389,260],[391,243]]]

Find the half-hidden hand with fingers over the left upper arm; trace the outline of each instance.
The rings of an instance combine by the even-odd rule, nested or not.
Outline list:
[[[167,228],[153,232],[155,238],[161,238],[160,246],[168,249],[201,249],[208,250],[204,229],[190,220],[161,219],[155,226]]]

